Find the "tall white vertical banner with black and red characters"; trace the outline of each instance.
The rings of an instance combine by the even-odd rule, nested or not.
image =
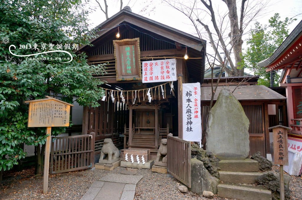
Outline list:
[[[183,139],[201,142],[200,83],[182,84]]]

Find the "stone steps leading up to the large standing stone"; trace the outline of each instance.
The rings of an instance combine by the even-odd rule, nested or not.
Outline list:
[[[220,167],[220,182],[217,195],[223,198],[238,200],[271,200],[271,191],[255,183],[259,172],[259,163],[255,160],[221,160],[216,163]]]

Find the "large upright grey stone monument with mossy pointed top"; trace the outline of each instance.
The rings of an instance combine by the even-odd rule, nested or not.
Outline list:
[[[206,141],[207,151],[220,159],[245,159],[249,155],[249,119],[226,88],[210,110]]]

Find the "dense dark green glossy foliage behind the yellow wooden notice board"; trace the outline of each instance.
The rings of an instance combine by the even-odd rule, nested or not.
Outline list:
[[[69,51],[73,60],[63,63],[51,58],[68,57],[54,52],[34,56],[45,60],[29,60],[12,56],[8,47],[15,45],[17,55],[37,53],[37,49],[19,49],[19,45],[89,44],[95,31],[87,27],[85,4],[79,0],[0,0],[0,39],[8,37],[8,44],[0,44],[0,170],[9,170],[25,157],[22,144],[45,144],[45,128],[27,128],[28,105],[24,100],[41,99],[53,91],[62,100],[80,105],[98,106],[104,95],[103,84],[93,74],[101,75],[103,65],[88,65],[85,53]],[[87,33],[84,35],[84,33]],[[56,46],[55,46],[56,47]],[[47,49],[49,50],[49,49]],[[31,56],[33,57],[33,56]],[[48,60],[47,60],[48,59]],[[52,129],[58,135],[65,128]]]

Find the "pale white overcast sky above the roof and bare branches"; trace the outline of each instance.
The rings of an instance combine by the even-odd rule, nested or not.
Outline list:
[[[101,5],[103,4],[103,0],[98,0]],[[182,2],[189,1],[183,0]],[[249,0],[252,3],[255,2],[265,2],[265,0]],[[119,0],[107,0],[108,2],[108,11],[109,17],[116,14],[119,11],[120,5]],[[128,4],[128,1],[123,0],[123,7]],[[149,3],[150,0],[130,0],[129,6],[132,9],[133,13],[143,15],[149,19],[154,21],[158,21],[162,24],[168,25],[170,27],[176,28],[178,30],[182,30],[186,33],[192,34],[196,36],[196,31],[194,27],[191,25],[191,22],[179,11],[175,10],[171,6],[163,3],[161,0],[153,0],[152,3]],[[215,5],[214,9],[220,12],[220,15],[226,13],[227,7],[224,2],[221,0],[212,0],[213,5]],[[240,1],[241,2],[241,1]],[[104,13],[98,8],[98,4],[95,3],[95,0],[92,0],[90,4],[91,8],[95,7],[96,11],[90,14],[89,19],[91,20],[91,28],[101,24],[106,20]],[[143,8],[146,8],[146,11],[142,11]],[[237,8],[238,9],[238,8]],[[268,0],[267,6],[262,10],[262,12],[256,18],[261,24],[268,24],[268,19],[272,17],[275,13],[279,13],[281,19],[284,20],[285,17],[294,17],[297,21],[294,21],[288,28],[290,32],[297,26],[297,24],[302,20],[302,0]],[[206,14],[201,15],[202,21],[204,23],[208,23],[210,26],[210,18]],[[250,27],[253,26],[255,21],[250,23]],[[250,30],[250,27],[247,29]],[[246,40],[248,35],[243,37],[243,40]],[[205,38],[207,40],[207,38]],[[246,47],[243,44],[243,48]],[[207,47],[207,51],[211,51],[211,48]]]

